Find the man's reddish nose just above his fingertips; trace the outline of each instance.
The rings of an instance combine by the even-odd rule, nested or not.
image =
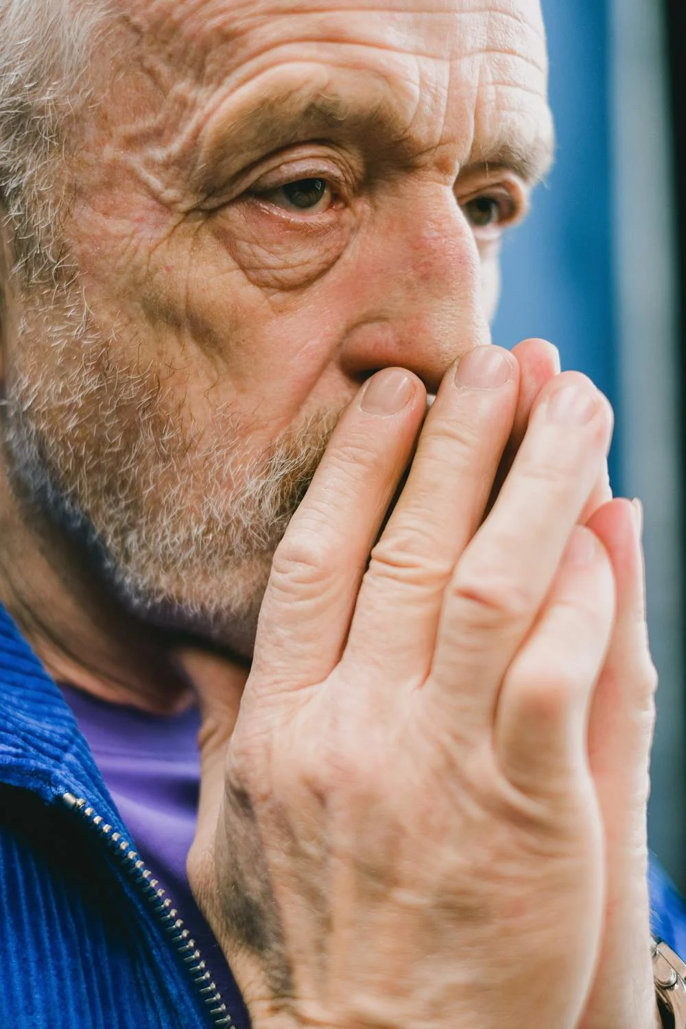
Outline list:
[[[449,188],[385,202],[352,265],[356,319],[340,353],[351,378],[400,365],[432,393],[456,357],[491,342],[478,249]]]

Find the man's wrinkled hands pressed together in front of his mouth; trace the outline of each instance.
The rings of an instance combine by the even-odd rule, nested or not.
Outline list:
[[[557,372],[478,348],[424,423],[365,383],[201,689],[189,877],[255,1029],[657,1024],[640,513]]]

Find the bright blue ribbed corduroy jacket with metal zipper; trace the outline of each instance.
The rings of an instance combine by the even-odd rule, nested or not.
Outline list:
[[[654,931],[686,911],[651,867]],[[0,1029],[232,1026],[131,843],[87,743],[0,607]]]

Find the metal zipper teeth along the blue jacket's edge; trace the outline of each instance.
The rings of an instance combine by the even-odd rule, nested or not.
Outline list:
[[[133,878],[134,884],[150,904],[152,914],[169,935],[170,943],[181,956],[184,967],[206,1005],[213,1025],[222,1026],[225,1029],[236,1029],[217,985],[195,946],[195,941],[191,938],[188,929],[184,928],[183,919],[179,918],[172,901],[165,895],[165,890],[158,886],[157,880],[152,878],[150,870],[145,867],[138,852],[132,848],[130,842],[120,832],[113,829],[109,822],[106,822],[101,815],[96,814],[95,809],[88,807],[82,796],[66,792],[62,794],[62,801],[68,808],[77,811],[91,828],[105,837],[110,852],[117,863]]]

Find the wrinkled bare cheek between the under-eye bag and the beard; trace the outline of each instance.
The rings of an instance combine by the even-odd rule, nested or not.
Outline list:
[[[111,268],[97,277],[93,270],[88,298],[105,326],[115,309],[123,313],[117,346],[163,369],[164,388],[198,427],[211,432],[212,413],[229,407],[245,431],[269,438],[349,399],[334,357],[355,293],[329,287],[326,277],[309,289],[284,288],[302,260],[272,264],[245,237],[233,237],[230,249],[214,226],[184,224],[139,248],[123,281]]]

